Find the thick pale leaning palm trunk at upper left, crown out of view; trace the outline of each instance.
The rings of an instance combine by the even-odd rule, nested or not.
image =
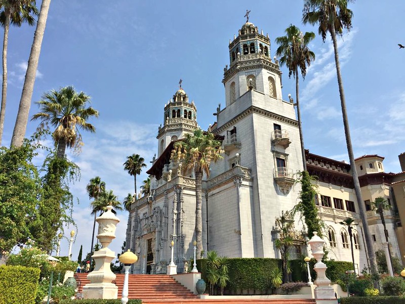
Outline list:
[[[32,92],[34,90],[36,68],[38,67],[39,54],[41,53],[41,45],[44,38],[50,4],[51,0],[43,0],[41,4],[41,11],[39,12],[38,21],[36,23],[34,40],[32,42],[31,53],[29,54],[20,106],[18,108],[16,124],[14,125],[10,146],[20,147],[24,141]]]

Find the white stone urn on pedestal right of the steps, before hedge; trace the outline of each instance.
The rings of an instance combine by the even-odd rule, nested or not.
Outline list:
[[[317,260],[313,268],[316,272],[316,280],[314,282],[316,285],[314,290],[316,304],[337,304],[338,300],[335,298],[335,291],[331,286],[331,280],[325,274],[327,266],[322,262],[322,257],[325,255],[325,252],[323,252],[325,241],[317,236],[317,232],[314,232],[313,237],[308,243],[311,246],[313,257]]]

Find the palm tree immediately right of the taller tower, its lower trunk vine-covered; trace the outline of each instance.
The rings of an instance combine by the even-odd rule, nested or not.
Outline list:
[[[298,69],[301,70],[302,78],[305,78],[307,73],[307,65],[311,64],[311,61],[315,60],[315,54],[308,49],[308,44],[315,38],[313,32],[306,32],[305,34],[300,31],[300,29],[290,24],[286,29],[287,35],[277,37],[275,42],[279,45],[275,53],[276,56],[280,57],[280,65],[286,65],[289,69],[289,77],[293,74],[295,78],[295,94],[297,102],[297,115],[298,115],[298,129],[300,132],[301,141],[301,153],[302,153],[302,163],[304,166],[304,171],[307,170],[307,165],[305,162],[305,150],[304,150],[304,137],[302,134],[302,123],[301,123],[301,111],[300,111],[300,99],[299,99],[299,80],[298,80]]]

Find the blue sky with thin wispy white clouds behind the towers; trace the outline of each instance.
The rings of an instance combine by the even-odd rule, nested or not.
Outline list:
[[[39,7],[38,1],[38,7]],[[301,24],[303,2],[282,1],[90,1],[58,0],[51,3],[32,101],[62,86],[92,96],[100,117],[91,121],[96,134],[83,134],[79,155],[69,154],[82,170],[82,179],[71,186],[78,199],[74,218],[78,233],[73,258],[83,244],[90,250],[92,217],[86,184],[99,175],[122,201],[133,192],[133,178],[123,170],[126,157],[136,153],[149,164],[157,152],[158,125],[163,123],[165,102],[183,88],[197,106],[197,122],[212,124],[218,103],[224,107],[223,68],[229,64],[228,43],[245,22],[268,33],[271,57],[277,36],[290,23],[302,31],[317,28]],[[353,28],[339,41],[339,56],[350,120],[354,155],[385,157],[387,172],[399,172],[397,156],[405,151],[405,3],[357,1],[349,6]],[[9,90],[3,144],[9,145],[34,27],[11,28],[9,36]],[[348,160],[333,47],[319,36],[310,48],[316,55],[301,82],[305,147],[311,153]],[[295,81],[282,68],[283,98],[295,97]],[[32,104],[30,115],[38,110]],[[29,122],[27,137],[37,127]],[[144,170],[146,171],[146,170]],[[143,172],[139,181],[146,178]],[[127,213],[111,248],[118,251],[125,238]],[[68,235],[68,233],[66,233]],[[89,247],[89,248],[88,248]],[[67,240],[62,242],[67,254]]]

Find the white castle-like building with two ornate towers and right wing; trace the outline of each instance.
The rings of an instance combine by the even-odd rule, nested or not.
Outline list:
[[[225,153],[223,159],[212,164],[210,176],[203,178],[203,248],[229,257],[279,258],[274,242],[279,238],[275,219],[298,202],[300,187],[294,186],[295,174],[303,170],[294,104],[282,98],[281,71],[270,57],[268,34],[259,33],[253,23],[242,25],[229,43],[229,61],[222,81],[225,108],[218,106],[217,120],[211,126],[222,139]],[[171,161],[171,152],[176,140],[198,127],[196,104],[189,101],[181,82],[165,104],[163,126],[156,136],[157,157],[147,171],[151,191],[132,204],[128,221],[127,247],[140,257],[133,273],[166,273],[172,240],[178,272],[193,256],[195,179],[192,174],[183,174],[181,164]],[[331,258],[351,260],[347,231],[339,222],[355,218],[355,259],[361,269],[367,265],[366,246],[350,166],[309,151],[306,158],[310,174],[319,176],[316,202],[319,216],[327,225],[325,238],[333,253]],[[383,172],[382,160],[365,156],[356,161],[360,175],[365,172],[360,184],[369,202],[381,195],[393,202],[387,184],[391,175]],[[368,212],[377,250],[384,233],[375,212]],[[391,245],[399,256],[394,231],[398,218],[394,211],[388,213]],[[295,229],[302,229],[298,216]],[[297,233],[291,258],[307,254],[304,243],[302,234]]]

